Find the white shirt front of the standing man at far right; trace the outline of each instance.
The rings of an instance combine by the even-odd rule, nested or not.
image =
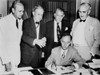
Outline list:
[[[80,45],[80,46],[87,46],[86,40],[85,40],[85,33],[84,28],[86,24],[85,22],[80,22],[73,33],[73,43]]]

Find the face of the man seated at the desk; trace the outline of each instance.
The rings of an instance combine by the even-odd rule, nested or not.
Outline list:
[[[63,50],[66,50],[69,47],[70,44],[71,44],[70,36],[62,37],[61,46],[62,46]]]

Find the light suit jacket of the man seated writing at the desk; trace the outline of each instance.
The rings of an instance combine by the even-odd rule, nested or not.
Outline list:
[[[45,62],[45,67],[49,66],[53,62],[58,66],[71,65],[73,61],[76,61],[79,65],[82,65],[85,62],[73,47],[69,47],[66,56],[62,58],[61,46],[59,46],[52,49],[51,55]]]

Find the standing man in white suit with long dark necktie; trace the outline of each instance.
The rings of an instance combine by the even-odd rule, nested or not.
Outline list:
[[[0,20],[0,54],[6,68],[20,63],[20,40],[24,6],[19,1],[12,4],[12,12]]]

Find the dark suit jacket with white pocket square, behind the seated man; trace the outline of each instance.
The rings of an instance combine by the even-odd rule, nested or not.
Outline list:
[[[67,27],[66,21],[62,21],[61,35],[66,31],[66,27]],[[70,32],[70,29],[67,32]],[[54,46],[54,20],[46,23],[46,38],[47,38],[47,46],[46,46],[45,55],[48,58],[48,56],[51,53],[51,49],[55,47]]]

